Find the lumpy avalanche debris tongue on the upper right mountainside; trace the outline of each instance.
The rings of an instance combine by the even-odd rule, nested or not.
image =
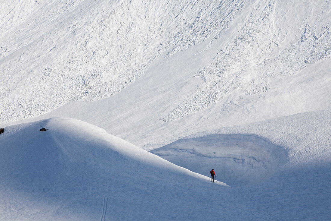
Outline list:
[[[190,76],[203,78],[203,84],[163,120],[201,111],[238,90],[248,95],[262,94],[270,89],[269,77],[298,74],[309,63],[330,58],[330,5],[310,2],[305,7],[301,4],[289,7],[284,2],[259,2],[254,13],[247,14],[245,22],[241,21],[242,27],[236,24],[236,32],[217,49],[213,61]],[[280,25],[284,14],[293,8],[299,10],[296,19],[300,22],[292,23],[290,17],[286,24]],[[291,37],[282,36],[285,30]],[[215,38],[223,35],[220,32]]]

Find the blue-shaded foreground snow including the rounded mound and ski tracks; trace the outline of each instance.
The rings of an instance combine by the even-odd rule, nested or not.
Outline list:
[[[204,220],[211,209],[218,220],[329,217],[330,165],[278,168],[264,182],[227,187],[71,118],[9,126],[0,139],[5,220]]]

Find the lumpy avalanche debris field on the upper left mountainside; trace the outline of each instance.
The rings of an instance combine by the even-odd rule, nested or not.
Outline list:
[[[4,113],[0,123],[36,116],[68,101],[115,94],[169,47],[173,48],[168,56],[205,40],[224,26],[217,22],[224,20],[221,17],[229,20],[238,14],[234,9],[242,2],[34,4],[38,6],[32,9],[22,5],[21,11],[30,10],[26,15],[13,13],[20,2],[12,4],[1,26],[0,86],[5,94],[1,107],[13,111]]]

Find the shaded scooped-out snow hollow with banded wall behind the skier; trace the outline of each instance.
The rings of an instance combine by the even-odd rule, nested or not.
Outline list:
[[[178,166],[216,178],[230,186],[270,178],[287,159],[284,148],[252,134],[213,134],[183,138],[150,151]]]

